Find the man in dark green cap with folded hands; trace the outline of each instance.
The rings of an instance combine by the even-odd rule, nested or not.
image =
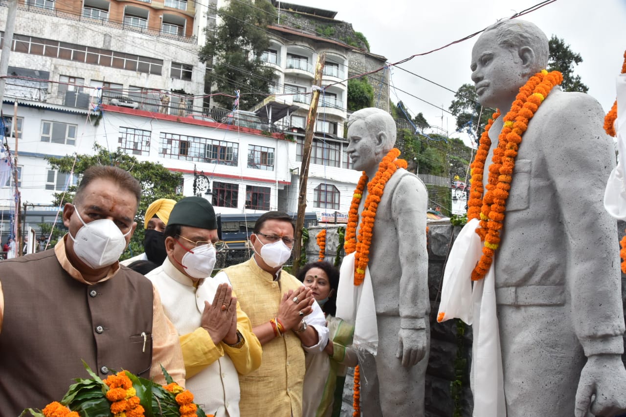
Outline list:
[[[259,368],[261,344],[232,288],[211,277],[223,247],[213,206],[202,197],[183,198],[163,236],[167,259],[146,277],[162,294],[163,310],[178,331],[186,388],[216,417],[238,416],[238,373]]]

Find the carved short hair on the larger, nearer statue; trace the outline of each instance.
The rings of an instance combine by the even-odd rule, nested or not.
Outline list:
[[[536,24],[525,20],[503,19],[492,24],[483,33],[495,31],[496,42],[508,49],[518,50],[528,46],[535,53],[535,65],[532,70],[538,73],[548,66],[550,48],[548,38]]]

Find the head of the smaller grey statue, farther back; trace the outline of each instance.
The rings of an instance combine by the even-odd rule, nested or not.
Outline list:
[[[396,122],[379,108],[355,111],[348,120],[347,154],[354,169],[371,177],[379,163],[396,143]]]

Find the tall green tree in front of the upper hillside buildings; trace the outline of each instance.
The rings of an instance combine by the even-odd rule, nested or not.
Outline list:
[[[231,1],[217,10],[222,23],[215,36],[207,32],[207,44],[200,49],[203,63],[213,63],[207,71],[207,83],[220,93],[234,94],[240,90],[239,105],[248,109],[269,93],[274,70],[261,60],[270,46],[266,28],[277,19],[277,13],[267,0]],[[233,98],[215,96],[224,108],[233,105]]]

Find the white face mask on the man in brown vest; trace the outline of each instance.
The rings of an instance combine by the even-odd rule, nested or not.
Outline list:
[[[100,269],[115,264],[126,247],[126,236],[132,228],[123,234],[113,220],[100,219],[85,223],[74,205],[74,212],[83,224],[76,238],[69,233],[74,241],[76,256],[91,269]]]

